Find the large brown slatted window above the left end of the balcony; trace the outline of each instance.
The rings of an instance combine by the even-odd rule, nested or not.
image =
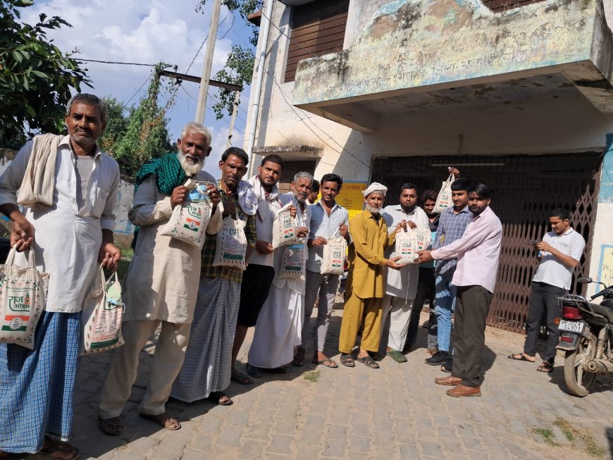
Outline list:
[[[316,0],[292,11],[285,82],[294,81],[298,61],[342,50],[349,0]]]

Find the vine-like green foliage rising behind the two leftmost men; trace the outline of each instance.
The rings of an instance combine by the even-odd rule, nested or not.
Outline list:
[[[164,67],[167,66],[163,63],[156,66],[147,96],[140,99],[137,106],[126,107],[115,98],[105,98],[106,130],[99,144],[102,150],[118,161],[125,175],[135,175],[149,158],[176,151],[176,146],[171,143],[168,135],[168,119],[165,117],[172,100],[164,107],[160,107],[157,101],[159,70]],[[176,94],[176,91],[173,94]]]

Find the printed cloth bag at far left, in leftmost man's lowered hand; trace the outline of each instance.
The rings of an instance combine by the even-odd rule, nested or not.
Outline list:
[[[0,266],[0,342],[34,349],[34,332],[44,311],[49,273],[36,268],[34,250],[27,254],[27,267],[14,265],[16,249]]]

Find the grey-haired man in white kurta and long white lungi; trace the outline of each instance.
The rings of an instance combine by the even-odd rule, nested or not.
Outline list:
[[[292,192],[279,196],[281,204],[293,203],[296,207],[297,235],[307,237],[311,222],[311,209],[307,196],[311,190],[313,176],[297,173],[292,182]],[[281,366],[294,359],[294,347],[302,343],[304,321],[304,287],[307,245],[302,245],[303,264],[299,278],[280,278],[283,247],[275,254],[275,278],[268,298],[259,313],[253,342],[249,348],[247,372],[259,377],[260,368],[283,369]],[[295,250],[295,249],[294,249]]]

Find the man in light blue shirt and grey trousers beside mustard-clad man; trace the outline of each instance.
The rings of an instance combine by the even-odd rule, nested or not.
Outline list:
[[[328,356],[323,353],[323,344],[326,342],[330,316],[332,316],[334,299],[338,289],[339,275],[322,275],[319,272],[323,247],[326,245],[328,238],[341,236],[349,242],[349,213],[347,213],[347,209],[335,201],[341,186],[342,178],[340,175],[323,175],[320,185],[321,200],[310,206],[311,233],[307,242],[309,258],[307,259],[307,287],[304,294],[302,345],[297,350],[294,361],[292,361],[294,366],[304,365],[305,337],[307,337],[307,331],[309,330],[309,318],[311,318],[313,312],[315,299],[319,293],[315,326],[316,347],[313,362],[329,368],[338,367],[335,361],[328,359]]]

